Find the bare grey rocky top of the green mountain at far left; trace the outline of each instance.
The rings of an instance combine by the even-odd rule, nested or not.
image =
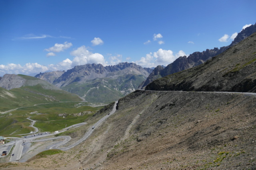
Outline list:
[[[16,74],[4,74],[4,76],[0,78],[0,87],[11,90],[13,88],[20,88],[25,82],[26,79]]]

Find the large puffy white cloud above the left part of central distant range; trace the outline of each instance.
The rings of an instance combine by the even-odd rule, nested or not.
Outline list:
[[[78,47],[78,49],[72,51],[70,54],[75,56],[72,61],[72,66],[84,65],[88,63],[106,65],[103,55],[88,51],[84,45]]]

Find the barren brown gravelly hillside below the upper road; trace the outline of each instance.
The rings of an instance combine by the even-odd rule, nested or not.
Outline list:
[[[136,91],[81,145],[6,169],[254,169],[255,108],[245,94]]]

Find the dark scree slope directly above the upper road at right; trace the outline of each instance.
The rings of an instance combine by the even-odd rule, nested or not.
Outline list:
[[[206,63],[154,80],[145,89],[256,92],[256,33]]]

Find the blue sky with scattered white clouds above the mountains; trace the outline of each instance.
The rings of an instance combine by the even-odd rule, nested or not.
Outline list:
[[[0,76],[134,62],[229,45],[255,0],[0,0]]]

